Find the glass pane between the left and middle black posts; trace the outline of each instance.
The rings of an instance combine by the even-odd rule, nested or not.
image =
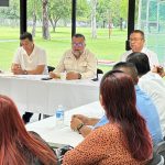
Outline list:
[[[47,53],[48,65],[56,66],[64,52],[70,48],[72,37],[72,0],[50,0],[48,38],[43,37],[43,2],[31,0],[28,2],[28,31],[33,34],[36,45]]]

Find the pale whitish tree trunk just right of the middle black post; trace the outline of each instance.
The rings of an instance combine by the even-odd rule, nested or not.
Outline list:
[[[92,38],[97,38],[96,8],[97,8],[97,0],[91,0],[91,37]]]

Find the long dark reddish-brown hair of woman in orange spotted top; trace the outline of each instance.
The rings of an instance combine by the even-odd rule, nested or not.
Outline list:
[[[128,140],[130,153],[135,160],[145,161],[152,154],[152,142],[145,120],[136,110],[132,78],[120,72],[108,72],[100,84],[100,95],[107,118],[118,122]]]

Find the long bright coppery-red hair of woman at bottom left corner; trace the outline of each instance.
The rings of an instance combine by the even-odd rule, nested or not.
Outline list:
[[[0,95],[0,165],[25,165],[29,160],[18,144],[30,151],[45,165],[56,164],[53,151],[42,141],[30,134],[19,114],[14,102]]]

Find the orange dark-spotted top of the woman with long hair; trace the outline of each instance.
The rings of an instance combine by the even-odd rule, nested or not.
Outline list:
[[[70,151],[72,156],[68,151],[63,160],[63,165],[145,164],[145,162],[139,162],[132,157],[125,141],[125,136],[119,124],[107,123],[94,130],[81,145],[75,147],[74,153]]]

